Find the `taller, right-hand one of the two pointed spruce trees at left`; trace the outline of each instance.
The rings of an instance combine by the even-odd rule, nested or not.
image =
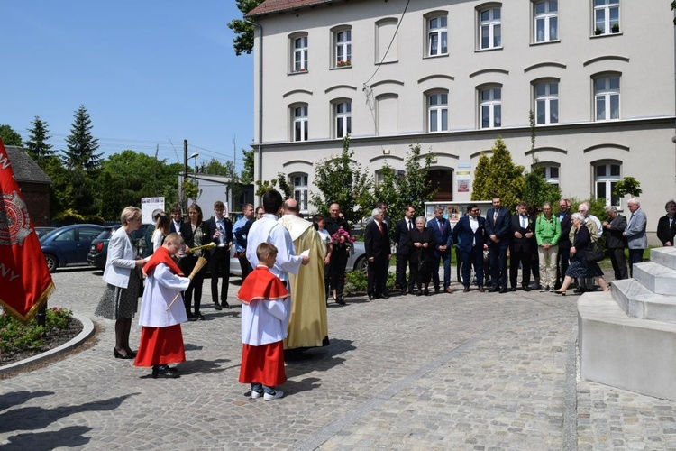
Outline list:
[[[101,155],[98,150],[98,140],[92,135],[92,121],[84,105],[76,110],[74,121],[70,127],[70,134],[66,137],[67,148],[64,153],[64,163],[69,170],[81,168],[85,171],[96,170],[101,164]]]

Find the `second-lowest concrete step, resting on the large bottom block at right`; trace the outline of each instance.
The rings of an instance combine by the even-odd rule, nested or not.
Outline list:
[[[655,294],[634,279],[613,281],[610,290],[626,315],[676,323],[676,297]]]

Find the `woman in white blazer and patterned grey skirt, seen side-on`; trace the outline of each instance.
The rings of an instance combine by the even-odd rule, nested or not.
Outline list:
[[[120,220],[122,227],[115,230],[108,243],[104,270],[107,286],[95,315],[115,320],[115,358],[132,359],[136,353],[129,346],[129,333],[142,286],[138,269],[145,261],[137,258],[130,234],[141,226],[141,208],[124,208]]]

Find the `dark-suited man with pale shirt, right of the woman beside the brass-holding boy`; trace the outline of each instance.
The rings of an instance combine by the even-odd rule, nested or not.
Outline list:
[[[211,250],[209,271],[211,272],[211,300],[214,308],[230,308],[228,304],[228,284],[230,282],[230,248],[233,245],[233,223],[227,217],[225,205],[220,200],[214,202],[214,215],[206,221],[209,237],[216,247]],[[222,279],[221,302],[218,302],[218,279]]]

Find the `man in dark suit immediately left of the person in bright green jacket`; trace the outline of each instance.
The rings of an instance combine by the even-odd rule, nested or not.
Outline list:
[[[509,257],[509,283],[516,291],[519,263],[521,263],[521,287],[530,291],[531,255],[537,246],[535,242],[535,224],[528,216],[528,205],[521,202],[516,206],[516,215],[512,216],[512,241]]]

